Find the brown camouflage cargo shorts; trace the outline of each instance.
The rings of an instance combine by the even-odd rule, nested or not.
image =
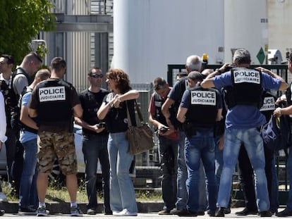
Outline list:
[[[69,132],[39,132],[37,134],[39,173],[51,173],[56,157],[63,175],[77,173],[74,134]]]

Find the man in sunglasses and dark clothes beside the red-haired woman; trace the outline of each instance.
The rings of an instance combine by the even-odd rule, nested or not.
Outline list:
[[[109,154],[107,139],[109,134],[105,123],[97,118],[97,111],[102,106],[104,96],[109,94],[102,88],[102,70],[94,67],[89,70],[87,80],[90,87],[80,92],[79,99],[83,107],[83,118],[75,118],[75,123],[83,127],[83,155],[85,161],[85,185],[88,197],[87,215],[97,211],[97,163],[102,166],[104,182],[104,213],[112,214],[109,205]]]

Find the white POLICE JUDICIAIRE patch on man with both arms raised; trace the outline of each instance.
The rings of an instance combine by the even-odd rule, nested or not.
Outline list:
[[[260,84],[260,72],[256,70],[234,70],[233,75],[235,84],[243,82]]]

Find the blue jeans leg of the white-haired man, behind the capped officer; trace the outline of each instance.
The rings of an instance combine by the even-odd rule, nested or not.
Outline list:
[[[188,178],[188,172],[185,165],[185,132],[180,132],[178,140],[178,179],[177,179],[177,200],[176,208],[185,209],[188,202],[188,192],[185,181]]]

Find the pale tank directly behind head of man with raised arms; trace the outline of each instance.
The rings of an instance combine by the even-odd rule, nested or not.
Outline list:
[[[264,64],[267,55],[266,0],[224,1],[224,59],[232,61],[235,49],[248,49],[253,64]]]

